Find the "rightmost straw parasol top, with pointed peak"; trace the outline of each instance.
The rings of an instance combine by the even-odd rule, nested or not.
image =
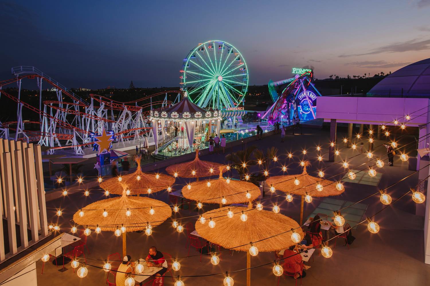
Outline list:
[[[338,196],[345,191],[336,189],[336,183],[331,180],[316,178],[306,172],[306,167],[309,166],[309,161],[305,162],[303,172],[300,175],[283,175],[274,176],[267,179],[267,184],[273,185],[276,190],[281,190],[286,193],[304,196],[308,193],[314,197]],[[295,178],[299,180],[299,184],[294,184]],[[316,189],[316,185],[322,185],[322,191]]]

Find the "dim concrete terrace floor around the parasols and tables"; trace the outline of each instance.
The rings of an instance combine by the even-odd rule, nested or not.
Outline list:
[[[344,146],[341,142],[344,134],[338,133],[338,145]],[[413,141],[411,136],[404,136],[404,140],[400,141],[400,145],[405,145]],[[304,157],[311,161],[312,166],[308,172],[315,171],[325,166],[331,166],[327,155],[324,161],[316,161],[316,145],[321,145],[323,152],[328,151],[329,132],[323,129],[304,129],[303,135],[286,135],[285,143],[280,143],[279,135],[271,135],[261,141],[252,142],[252,145],[257,145],[258,148],[265,150],[268,147],[275,146],[279,149],[280,156],[279,163],[286,163],[288,166],[289,174],[300,174],[301,167],[298,162]],[[384,143],[383,140],[375,140],[375,146]],[[365,145],[366,146],[366,145]],[[415,144],[409,144],[414,146]],[[245,147],[245,146],[244,146]],[[242,147],[237,146],[233,151],[240,150]],[[306,148],[308,153],[301,154],[303,148]],[[413,149],[413,148],[411,148]],[[411,150],[409,149],[409,150]],[[228,152],[231,150],[229,149]],[[294,157],[290,160],[285,157],[289,151],[294,151]],[[339,162],[344,158],[351,157],[359,154],[359,151],[350,148],[340,149],[341,155],[336,157],[335,162]],[[226,151],[227,152],[227,151]],[[375,156],[382,156],[386,154],[383,146],[375,149]],[[386,157],[384,157],[386,158]],[[214,162],[224,163],[224,155],[205,155],[201,157],[202,160],[209,160]],[[286,160],[287,159],[287,160]],[[365,169],[369,160],[365,154],[354,157],[348,160],[350,169]],[[345,192],[339,199],[349,200],[356,202],[375,193],[380,188],[384,188],[393,182],[412,174],[408,171],[408,162],[401,162],[399,157],[395,157],[394,167],[387,165],[385,159],[385,166],[382,169],[377,169],[381,172],[382,178],[377,187],[364,184],[344,183]],[[374,161],[373,161],[374,162]],[[366,163],[359,166],[362,163]],[[370,165],[370,163],[369,163]],[[273,164],[272,164],[273,166]],[[279,164],[277,166],[280,166]],[[250,172],[258,170],[258,166],[253,166]],[[155,170],[157,171],[157,170]],[[164,172],[164,169],[158,170]],[[335,163],[324,170],[325,178],[338,174],[344,171],[341,163]],[[273,168],[270,170],[270,175],[280,175],[282,170],[280,168]],[[341,179],[344,174],[337,175],[335,178]],[[234,176],[234,172],[233,172]],[[404,194],[409,187],[415,187],[417,184],[418,173],[412,175],[410,178],[396,184],[394,187],[388,189],[388,193],[393,197],[393,201]],[[176,184],[186,183],[189,179],[178,178]],[[179,189],[179,188],[176,188]],[[276,191],[275,195],[282,192]],[[266,197],[270,193],[266,192]],[[151,197],[160,199],[169,204],[168,193],[161,191],[154,193]],[[90,202],[104,199],[101,190],[92,190],[89,197],[85,197],[83,193],[75,193],[67,197],[61,197],[53,201],[47,202],[48,208],[82,208]],[[313,198],[310,204],[305,203],[304,220],[313,212],[319,205],[322,199]],[[300,199],[295,197],[292,202],[286,202],[285,196],[279,196],[273,199],[273,202],[278,202],[281,208],[281,213],[292,217],[298,221]],[[373,196],[366,199],[362,203],[369,205],[366,210],[365,216],[372,216],[380,211],[384,206],[379,201],[379,196]],[[203,211],[208,211],[210,208],[216,208],[213,205],[205,205]],[[73,223],[71,217],[74,211],[63,211],[63,216],[58,219],[55,215],[54,209],[48,209],[48,218],[50,222],[58,223]],[[189,215],[197,215],[197,212],[188,210],[180,211],[176,214],[176,218],[181,216],[186,217]],[[348,284],[348,285],[428,285],[430,281],[430,265],[424,264],[424,235],[423,235],[423,217],[415,216],[415,203],[412,202],[410,195],[407,195],[390,205],[386,210],[381,212],[375,217],[375,221],[381,226],[378,234],[371,234],[367,231],[366,225],[363,224],[358,229],[353,230],[353,235],[356,240],[350,245],[350,250],[343,246],[341,240],[338,240],[336,248],[333,249],[333,256],[330,259],[317,256],[314,253],[313,259],[310,259],[312,266],[307,270],[307,276],[303,278],[303,285],[333,285],[333,284]],[[168,221],[169,222],[169,221]],[[70,227],[62,227],[64,232],[70,233]],[[283,230],[279,229],[279,232]],[[121,253],[122,239],[117,238],[111,232],[101,232],[96,235],[94,232],[88,237],[88,246],[91,255],[86,251],[87,258],[93,259],[106,259],[107,255],[115,252]],[[127,250],[132,256],[132,259],[138,259],[147,255],[148,248],[152,245],[157,246],[160,251],[172,254],[174,257],[183,257],[188,255],[188,250],[185,249],[186,235],[185,232],[178,233],[172,228],[170,223],[154,228],[154,232],[150,237],[144,233],[127,233]],[[190,250],[190,255],[198,254],[194,249]],[[210,273],[224,273],[225,271],[236,271],[246,268],[246,253],[234,252],[230,255],[230,251],[221,253],[222,261],[214,266],[209,261],[209,256],[202,256],[200,262],[199,256],[180,259],[180,271],[173,272],[174,276],[192,276],[203,275]],[[261,265],[273,262],[273,253],[259,253],[258,256],[252,257],[252,266]],[[88,264],[102,266],[103,262],[87,260]],[[87,277],[80,279],[74,274],[70,264],[66,265],[67,271],[61,273],[57,271],[55,265],[46,264],[43,275],[40,274],[42,262],[37,262],[37,280],[39,285],[48,284],[61,284],[67,283],[71,285],[105,285],[106,272],[101,269],[88,267],[89,274]],[[276,285],[277,277],[272,273],[273,265],[254,268],[251,271],[252,285],[271,286]],[[170,275],[170,274],[167,274]],[[230,275],[234,279],[235,286],[243,286],[246,284],[246,271],[240,271]],[[112,277],[112,276],[111,276]],[[199,283],[206,283],[206,285],[222,285],[224,275],[212,277],[184,277],[182,280],[185,285],[198,285]],[[427,282],[426,282],[427,281]],[[280,285],[295,285],[295,280],[290,277],[283,279],[281,277]],[[173,285],[170,277],[165,278],[165,285]]]

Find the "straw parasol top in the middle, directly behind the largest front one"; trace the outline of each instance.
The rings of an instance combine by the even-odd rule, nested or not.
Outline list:
[[[260,189],[252,183],[223,178],[223,168],[224,166],[218,167],[218,179],[191,183],[191,190],[188,190],[187,186],[184,186],[182,188],[182,195],[187,199],[211,204],[221,204],[221,199],[224,196],[229,205],[252,202],[260,196]],[[210,182],[210,187],[208,187],[208,182]],[[251,194],[250,199],[246,198],[246,193],[242,193],[246,191],[249,191]]]

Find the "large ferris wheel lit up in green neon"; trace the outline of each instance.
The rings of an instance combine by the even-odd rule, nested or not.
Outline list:
[[[185,57],[181,88],[203,108],[229,109],[245,101],[248,69],[242,54],[227,42],[208,41]]]

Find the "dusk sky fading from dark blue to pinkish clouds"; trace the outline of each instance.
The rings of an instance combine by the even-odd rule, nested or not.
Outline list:
[[[36,66],[68,87],[173,87],[207,40],[236,46],[249,84],[394,72],[430,57],[430,0],[1,1],[1,80]]]

